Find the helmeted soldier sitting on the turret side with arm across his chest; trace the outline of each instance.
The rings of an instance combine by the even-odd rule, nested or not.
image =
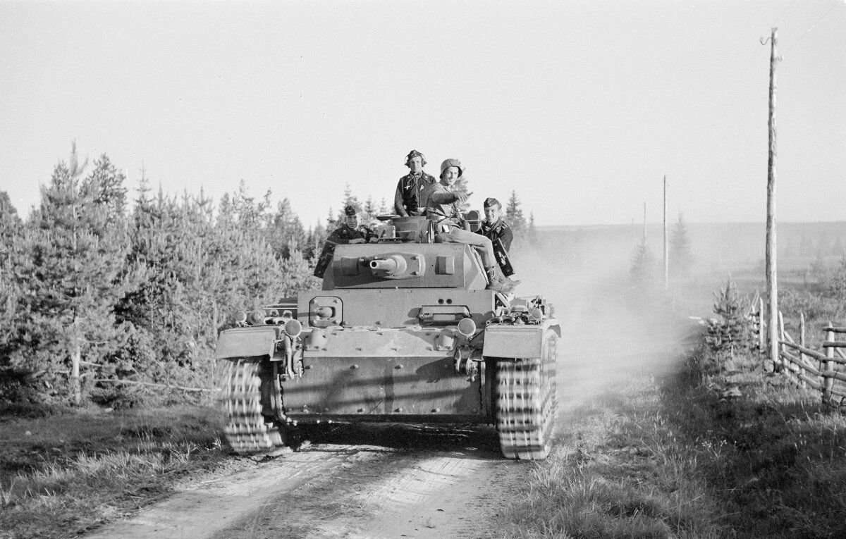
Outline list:
[[[426,217],[432,221],[437,237],[442,242],[466,243],[477,248],[481,253],[481,262],[490,281],[487,288],[507,294],[514,290],[514,286],[517,286],[519,281],[497,275],[499,265],[493,253],[491,240],[464,229],[464,220],[461,217],[459,204],[467,199],[467,195],[453,191],[453,186],[461,177],[461,174],[462,169],[459,160],[448,159],[441,163],[441,181],[433,184],[426,193],[428,196]]]

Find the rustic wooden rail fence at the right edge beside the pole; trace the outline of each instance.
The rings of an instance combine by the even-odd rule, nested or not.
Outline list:
[[[761,317],[764,301],[760,297],[750,312],[758,349],[766,351],[766,320]],[[755,309],[757,308],[757,309]],[[799,342],[784,330],[784,318],[778,312],[778,359],[776,371],[790,378],[794,384],[819,390],[822,401],[835,406],[846,406],[846,328],[830,322],[822,328],[826,332],[821,349],[814,350],[805,342],[805,314],[799,313]]]

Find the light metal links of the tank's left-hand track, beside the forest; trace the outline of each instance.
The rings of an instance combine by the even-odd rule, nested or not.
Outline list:
[[[276,455],[284,447],[279,428],[261,414],[259,368],[255,360],[238,359],[228,362],[225,373],[223,433],[239,455]]]

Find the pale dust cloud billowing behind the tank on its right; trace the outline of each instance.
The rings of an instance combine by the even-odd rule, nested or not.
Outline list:
[[[671,315],[660,286],[633,285],[636,242],[601,231],[554,231],[541,248],[513,254],[519,296],[541,295],[561,323],[558,395],[564,409],[624,387],[634,374],[667,372],[684,357],[684,336],[697,326]],[[621,385],[622,384],[622,385]]]

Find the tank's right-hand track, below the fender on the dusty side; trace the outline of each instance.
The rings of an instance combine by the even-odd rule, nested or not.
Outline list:
[[[497,361],[497,431],[507,459],[544,460],[549,454],[558,397],[558,335],[547,329],[541,359]]]

